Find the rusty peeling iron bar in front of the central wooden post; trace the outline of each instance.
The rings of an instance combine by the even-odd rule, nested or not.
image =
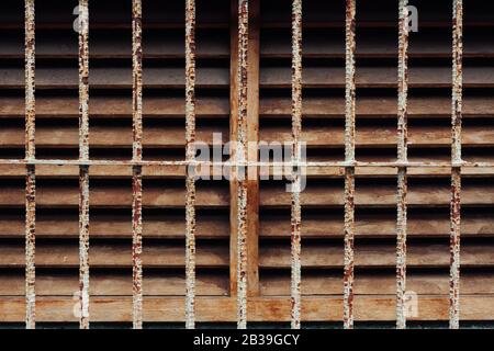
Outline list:
[[[249,2],[238,1],[237,162],[237,328],[247,328],[247,73]]]

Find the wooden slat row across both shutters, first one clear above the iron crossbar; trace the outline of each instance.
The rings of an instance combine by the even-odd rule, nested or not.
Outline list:
[[[223,143],[227,141],[227,125],[203,124],[198,126],[197,141],[213,143],[213,134],[221,133]],[[122,148],[132,145],[132,126],[92,125],[90,127],[90,147]],[[345,145],[344,127],[339,124],[306,125],[301,134],[301,141],[310,148],[335,148]],[[445,147],[450,145],[451,132],[448,125],[413,125],[408,129],[408,146]],[[79,129],[77,125],[40,125],[36,127],[37,147],[76,148]],[[265,143],[288,143],[291,140],[289,126],[267,125],[260,131],[260,140]],[[0,129],[0,147],[22,148],[24,141],[23,126],[5,125]],[[396,127],[388,124],[364,125],[356,132],[358,147],[395,147]],[[186,136],[182,125],[145,125],[144,147],[183,148]],[[464,147],[494,146],[494,128],[482,125],[465,125],[462,132]]]

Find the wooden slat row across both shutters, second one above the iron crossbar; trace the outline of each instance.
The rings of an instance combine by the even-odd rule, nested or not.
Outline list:
[[[0,117],[24,118],[24,98],[0,97]],[[91,95],[89,101],[91,118],[132,116],[132,99],[124,97]],[[434,109],[430,109],[434,106]],[[291,101],[284,97],[260,99],[261,118],[290,117]],[[68,97],[36,97],[36,118],[78,118],[79,100]],[[183,117],[184,101],[182,98],[146,95],[143,104],[144,117]],[[359,97],[357,99],[357,117],[396,117],[395,97]],[[491,97],[464,97],[463,117],[494,117],[494,99]],[[304,118],[334,117],[345,115],[344,97],[304,97]],[[197,99],[197,116],[227,117],[229,115],[226,98]],[[451,99],[448,97],[411,97],[408,100],[408,117],[411,118],[450,118]]]

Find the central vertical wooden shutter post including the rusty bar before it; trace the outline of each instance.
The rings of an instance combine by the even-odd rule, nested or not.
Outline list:
[[[239,23],[239,18],[246,19],[240,10],[244,13],[248,11],[248,23]],[[259,13],[259,0],[232,1],[231,141],[234,147],[231,158],[235,162],[258,161]],[[242,36],[242,33],[246,35]],[[239,155],[244,151],[246,155]],[[240,299],[238,326],[244,328],[246,306],[242,299],[245,297],[239,294],[245,290],[247,296],[259,295],[259,169],[257,166],[247,167],[244,182],[238,180],[237,170],[235,167],[231,170],[231,294]],[[244,235],[242,239],[239,236]],[[239,252],[239,249],[245,249],[245,252]]]

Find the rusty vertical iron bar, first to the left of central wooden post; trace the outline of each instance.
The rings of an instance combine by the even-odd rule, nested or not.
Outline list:
[[[195,159],[195,0],[186,1],[186,159]],[[186,328],[195,328],[195,167],[186,173]]]

